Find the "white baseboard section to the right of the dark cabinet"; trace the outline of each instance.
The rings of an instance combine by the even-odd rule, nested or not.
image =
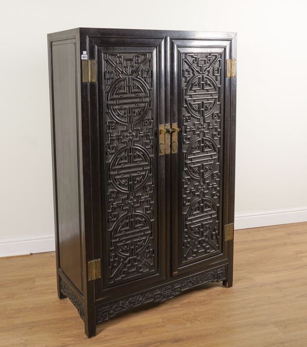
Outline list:
[[[234,215],[234,228],[247,229],[259,226],[279,225],[307,222],[307,206],[290,207],[289,209],[276,209]]]

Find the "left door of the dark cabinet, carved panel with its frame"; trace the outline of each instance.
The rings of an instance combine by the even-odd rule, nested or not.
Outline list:
[[[164,123],[163,51],[162,39],[97,38],[90,45],[98,69],[96,299],[165,278],[165,158],[157,137]]]

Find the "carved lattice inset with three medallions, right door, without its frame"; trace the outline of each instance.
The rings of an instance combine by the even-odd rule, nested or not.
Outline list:
[[[220,249],[221,53],[181,53],[181,262]]]

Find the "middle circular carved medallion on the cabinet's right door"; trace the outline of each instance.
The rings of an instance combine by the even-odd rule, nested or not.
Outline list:
[[[195,138],[187,148],[185,164],[194,179],[205,178],[217,164],[217,147],[210,137]]]

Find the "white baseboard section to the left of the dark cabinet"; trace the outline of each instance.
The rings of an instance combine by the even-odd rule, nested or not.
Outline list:
[[[0,239],[0,257],[23,256],[55,250],[54,234]]]

